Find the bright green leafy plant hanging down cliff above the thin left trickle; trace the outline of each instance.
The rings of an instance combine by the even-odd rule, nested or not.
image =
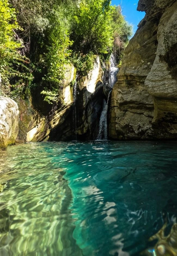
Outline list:
[[[69,39],[68,31],[63,26],[62,20],[58,17],[53,20],[53,26],[48,33],[47,53],[44,57],[44,65],[47,69],[47,74],[43,77],[46,81],[46,87],[41,94],[45,95],[45,100],[48,103],[58,101],[60,85],[65,78],[65,66],[69,63],[71,55],[72,41]],[[50,88],[50,91],[48,90]]]

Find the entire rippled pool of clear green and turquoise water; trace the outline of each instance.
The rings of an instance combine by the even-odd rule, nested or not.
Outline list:
[[[176,148],[41,142],[0,152],[0,255],[176,255]]]

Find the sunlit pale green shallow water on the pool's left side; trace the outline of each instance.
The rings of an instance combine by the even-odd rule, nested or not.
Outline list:
[[[82,255],[72,237],[71,190],[46,146],[3,152],[0,255]]]

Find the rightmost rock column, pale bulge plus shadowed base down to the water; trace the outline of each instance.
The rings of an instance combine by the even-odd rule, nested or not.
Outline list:
[[[157,55],[145,80],[145,86],[148,93],[154,97],[153,123],[161,126],[162,137],[175,138],[177,136],[177,1],[164,11],[158,25],[157,39]]]

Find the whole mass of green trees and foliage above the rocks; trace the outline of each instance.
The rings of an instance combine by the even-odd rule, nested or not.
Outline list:
[[[97,55],[105,61],[113,49],[120,60],[131,32],[121,7],[111,6],[111,0],[1,0],[5,93],[18,97],[38,86],[45,101],[58,102],[68,64],[85,76]]]

